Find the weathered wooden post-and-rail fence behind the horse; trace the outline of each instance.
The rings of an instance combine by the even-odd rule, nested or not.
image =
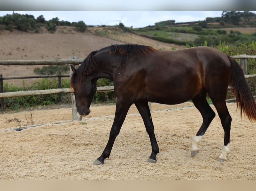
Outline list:
[[[244,71],[245,78],[254,78],[256,74],[247,75],[247,59],[256,59],[256,56],[248,56],[248,55],[240,55],[240,56],[232,56],[233,58],[240,59],[240,65]],[[0,65],[5,66],[34,66],[34,65],[73,65],[75,68],[79,66],[84,61],[84,59],[78,59],[78,57],[70,57],[67,60],[0,60]],[[5,97],[16,97],[16,96],[25,96],[25,95],[47,95],[47,94],[61,94],[61,93],[71,93],[70,89],[53,89],[53,90],[36,90],[36,91],[21,91],[21,92],[7,92],[3,93],[3,80],[10,79],[28,79],[28,78],[62,78],[62,77],[70,77],[72,75],[72,70],[70,70],[70,75],[45,75],[45,76],[18,76],[18,77],[2,77],[0,76],[0,98],[1,98],[1,108],[4,110],[4,101]],[[104,91],[113,91],[114,87],[97,87],[98,92]],[[73,120],[81,120],[81,117],[77,113],[76,104],[75,104],[75,96],[72,94],[72,119]]]

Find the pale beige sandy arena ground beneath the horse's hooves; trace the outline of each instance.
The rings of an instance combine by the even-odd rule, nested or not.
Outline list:
[[[71,120],[71,108],[32,110],[1,114],[0,180],[256,180],[255,123],[240,118],[235,103],[228,103],[232,116],[230,154],[218,162],[224,131],[218,115],[191,157],[190,147],[202,117],[193,103],[152,103],[152,119],[160,153],[157,163],[147,163],[150,140],[135,106],[129,110],[110,158],[93,165],[108,141],[115,105],[92,106],[82,121]],[[216,112],[214,106],[212,106]],[[166,110],[175,108],[171,110]],[[14,120],[21,120],[14,122]],[[28,120],[26,120],[28,118]]]

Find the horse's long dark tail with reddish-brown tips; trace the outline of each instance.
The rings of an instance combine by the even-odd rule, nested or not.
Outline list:
[[[241,117],[243,111],[250,121],[256,121],[256,103],[251,89],[245,80],[243,70],[235,59],[230,56],[228,56],[228,58],[231,63],[230,85],[233,88],[233,93],[237,99],[237,108],[240,109]]]

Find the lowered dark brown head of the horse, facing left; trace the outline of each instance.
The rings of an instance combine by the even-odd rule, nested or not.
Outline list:
[[[96,93],[96,80],[90,76],[81,76],[78,71],[71,66],[73,71],[71,77],[71,91],[75,94],[77,111],[81,116],[88,115],[93,96]]]

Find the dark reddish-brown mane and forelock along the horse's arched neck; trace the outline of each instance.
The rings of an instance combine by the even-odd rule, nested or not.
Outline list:
[[[98,51],[91,52],[85,60],[82,62],[80,67],[77,69],[77,73],[79,73],[80,80],[83,81],[84,78],[97,67],[97,63],[94,60],[94,55],[97,53],[101,53],[103,51],[108,52],[109,55],[121,55],[127,56],[131,55],[139,55],[139,56],[148,56],[157,51],[157,49],[145,46],[145,45],[137,45],[137,44],[123,44],[123,45],[111,45],[108,47],[104,47]],[[71,88],[74,88],[74,80],[75,75],[71,76]]]

